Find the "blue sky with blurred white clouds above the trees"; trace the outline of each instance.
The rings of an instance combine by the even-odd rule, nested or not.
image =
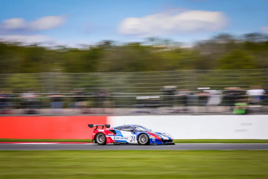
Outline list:
[[[198,12],[193,13],[193,11]],[[216,11],[217,13],[205,16],[206,12],[210,11]],[[173,16],[180,15],[183,12],[189,13],[176,19],[173,18]],[[147,18],[146,21],[129,19],[121,26],[119,32],[120,24],[124,19],[143,18],[159,13],[162,15],[156,18]],[[35,37],[49,37],[59,43],[92,44],[101,40],[141,41],[147,36],[156,34],[156,36],[171,38],[176,41],[192,42],[222,32],[235,35],[261,32],[263,27],[268,27],[268,1],[9,0],[2,1],[0,7],[0,22],[12,18],[23,18],[28,23],[46,16],[63,17],[64,22],[58,26],[49,26],[51,28],[37,28],[38,25],[46,25],[44,22],[47,23],[47,21],[44,20],[41,24],[35,24],[35,30],[30,29],[29,24],[26,25],[27,27],[19,27],[18,29],[15,27],[11,30],[0,29],[0,37],[24,37],[22,39],[33,37],[31,40]],[[162,16],[163,19],[161,19]],[[223,16],[225,21],[222,20]],[[207,19],[211,21],[207,22]],[[49,21],[53,21],[53,18],[50,18]],[[223,21],[222,24],[221,21]],[[133,25],[134,30],[131,30],[130,24],[133,23],[135,28]],[[174,25],[174,23],[177,23],[177,25]],[[187,26],[186,29],[184,25]],[[165,28],[162,28],[164,26]],[[2,23],[0,28],[4,27],[6,26]],[[209,27],[215,27],[215,29]]]

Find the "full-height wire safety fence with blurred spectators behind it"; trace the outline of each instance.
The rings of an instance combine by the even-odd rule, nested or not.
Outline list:
[[[264,114],[267,72],[1,74],[0,115],[226,114],[241,104]]]

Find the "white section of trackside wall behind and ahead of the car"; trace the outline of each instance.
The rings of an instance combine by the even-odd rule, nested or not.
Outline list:
[[[108,122],[143,125],[174,139],[268,139],[268,115],[110,116]]]

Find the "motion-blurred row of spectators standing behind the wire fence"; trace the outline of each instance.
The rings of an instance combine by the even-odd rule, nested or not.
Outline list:
[[[86,92],[85,89],[74,89],[70,93],[60,91],[40,94],[29,90],[22,94],[11,91],[0,93],[0,114],[12,114],[16,109],[23,109],[24,114],[38,114],[38,109],[50,109],[60,113],[63,109],[79,109],[83,114],[94,113],[95,108],[160,108],[169,107],[172,112],[188,112],[191,106],[222,106],[236,114],[247,114],[249,106],[264,107],[268,105],[268,89],[251,86],[249,89],[227,87],[224,90],[198,89],[189,91],[177,89],[176,86],[164,86],[161,95],[150,96],[121,95],[101,89],[98,92]],[[176,107],[180,108],[176,108]]]

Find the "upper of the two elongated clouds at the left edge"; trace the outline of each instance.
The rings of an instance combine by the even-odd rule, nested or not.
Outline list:
[[[63,16],[45,16],[35,21],[25,21],[23,18],[10,18],[4,20],[0,27],[3,30],[48,30],[59,27],[65,23]]]

